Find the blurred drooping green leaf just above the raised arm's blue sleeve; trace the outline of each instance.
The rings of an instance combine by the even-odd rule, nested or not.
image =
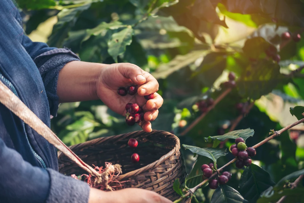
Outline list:
[[[89,9],[91,4],[85,4],[72,9],[63,9],[57,14],[58,22],[54,25],[52,34],[47,44],[50,47],[62,47],[62,43],[67,38],[68,32],[75,25],[80,14]]]

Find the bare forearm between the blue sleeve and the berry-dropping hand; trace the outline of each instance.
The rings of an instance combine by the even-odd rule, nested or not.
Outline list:
[[[59,102],[97,100],[96,81],[105,64],[71,61],[59,72],[57,95]]]

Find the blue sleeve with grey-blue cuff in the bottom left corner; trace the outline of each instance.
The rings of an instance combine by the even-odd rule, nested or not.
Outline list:
[[[87,203],[88,184],[32,166],[0,138],[0,202]]]

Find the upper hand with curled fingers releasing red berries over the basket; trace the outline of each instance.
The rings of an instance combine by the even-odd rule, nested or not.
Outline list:
[[[137,94],[120,96],[117,89],[137,85]],[[105,65],[98,76],[95,91],[99,99],[114,112],[126,115],[127,103],[137,103],[146,112],[141,127],[144,131],[152,131],[150,121],[154,121],[158,115],[158,109],[163,104],[163,98],[156,93],[157,80],[148,72],[130,63],[118,63]],[[154,98],[146,100],[143,96],[154,93]]]

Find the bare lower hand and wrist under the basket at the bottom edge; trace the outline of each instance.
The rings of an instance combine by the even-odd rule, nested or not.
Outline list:
[[[126,188],[105,192],[91,188],[88,203],[172,203],[172,201],[149,190]]]

